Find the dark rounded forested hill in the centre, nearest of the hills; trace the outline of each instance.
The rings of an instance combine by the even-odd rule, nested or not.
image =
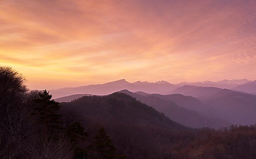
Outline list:
[[[169,130],[189,130],[176,123],[163,113],[137,101],[124,93],[113,93],[108,96],[83,96],[72,102],[61,103],[61,107],[70,107],[83,116],[98,121],[135,124]]]

